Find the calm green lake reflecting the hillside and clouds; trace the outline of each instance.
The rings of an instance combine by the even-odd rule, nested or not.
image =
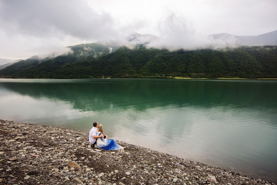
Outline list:
[[[277,181],[277,81],[0,79],[0,119],[89,132]]]

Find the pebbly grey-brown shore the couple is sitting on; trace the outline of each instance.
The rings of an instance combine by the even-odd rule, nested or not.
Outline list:
[[[274,184],[117,142],[91,148],[81,131],[0,120],[0,184]]]

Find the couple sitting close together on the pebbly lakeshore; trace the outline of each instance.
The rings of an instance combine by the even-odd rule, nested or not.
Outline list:
[[[103,125],[98,125],[97,122],[93,123],[93,127],[90,130],[89,141],[92,144],[92,147],[96,144],[98,148],[102,148],[104,150],[120,150],[123,148],[113,139],[108,139],[108,136],[103,134]]]

